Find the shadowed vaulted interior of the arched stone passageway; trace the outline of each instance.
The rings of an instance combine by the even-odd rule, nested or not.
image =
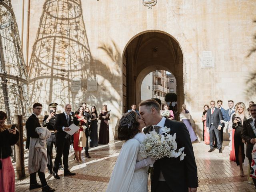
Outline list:
[[[177,82],[179,107],[184,103],[183,54],[178,42],[162,31],[134,36],[126,45],[123,61],[123,112],[141,102],[140,87],[145,76],[156,70],[171,71]]]

